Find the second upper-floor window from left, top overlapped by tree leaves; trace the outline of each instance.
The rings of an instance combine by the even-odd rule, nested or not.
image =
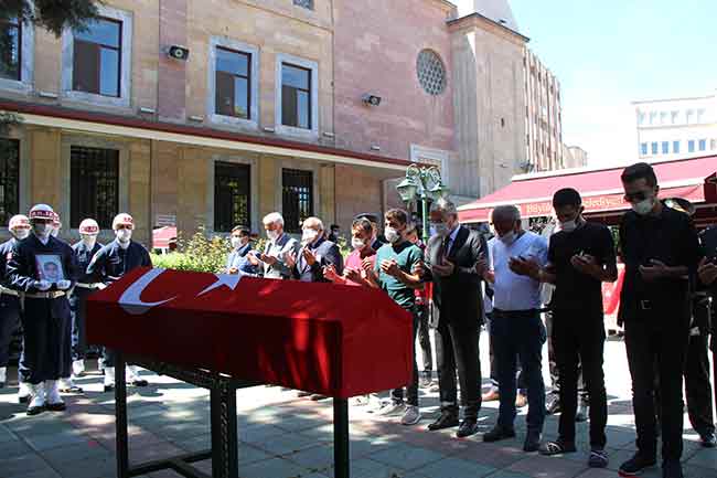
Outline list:
[[[119,97],[122,23],[98,19],[74,32],[73,89]]]

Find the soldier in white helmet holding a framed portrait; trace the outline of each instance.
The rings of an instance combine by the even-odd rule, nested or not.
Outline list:
[[[54,215],[47,204],[30,210],[32,234],[15,243],[7,269],[8,285],[20,293],[23,310],[24,349],[19,372],[31,392],[28,415],[65,410],[57,381],[64,355],[69,352],[69,337],[65,333],[71,320],[66,294],[77,270],[72,248],[51,235]],[[60,276],[50,279],[50,269],[61,269]]]

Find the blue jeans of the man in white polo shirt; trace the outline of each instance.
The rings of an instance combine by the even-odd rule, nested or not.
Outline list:
[[[543,431],[545,422],[545,383],[542,360],[546,331],[536,311],[505,312],[495,310],[491,321],[491,340],[497,369],[500,408],[497,425],[513,429],[515,421],[515,373],[517,360],[527,386],[527,427]]]

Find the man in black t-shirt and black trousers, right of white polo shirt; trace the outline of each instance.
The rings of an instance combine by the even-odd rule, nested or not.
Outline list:
[[[574,189],[553,196],[560,231],[550,237],[548,265],[533,272],[553,293],[553,347],[560,371],[561,414],[558,437],[541,447],[543,455],[576,452],[575,414],[578,406],[578,364],[590,401],[590,458],[593,468],[608,466],[604,427],[608,403],[602,371],[604,323],[602,283],[618,279],[614,242],[610,230],[582,217],[582,200]]]

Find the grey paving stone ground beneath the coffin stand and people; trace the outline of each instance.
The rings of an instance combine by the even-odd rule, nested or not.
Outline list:
[[[488,350],[485,338],[482,351]],[[483,360],[488,373],[488,358]],[[420,361],[419,361],[420,363]],[[143,372],[146,389],[130,389],[130,460],[145,461],[208,448],[208,394],[167,376]],[[586,466],[588,425],[578,426],[579,450],[561,457],[542,457],[521,450],[525,410],[516,419],[517,437],[484,444],[482,433],[495,422],[496,403],[484,404],[481,434],[467,439],[454,431],[427,432],[438,416],[437,393],[421,390],[424,419],[413,427],[397,418],[377,419],[365,407],[351,408],[353,478],[607,478],[634,452],[634,421],[624,346],[606,347],[609,393],[608,446],[604,470]],[[14,386],[0,390],[0,478],[115,477],[114,396],[101,392],[101,378],[88,373],[79,380],[84,395],[66,395],[68,411],[28,417],[15,404]],[[12,384],[11,384],[12,385]],[[297,399],[292,391],[258,386],[237,393],[239,477],[333,477],[331,401]],[[548,417],[545,437],[553,438],[557,417]],[[717,478],[717,450],[704,449],[685,418],[686,476]],[[211,471],[211,464],[199,467]],[[179,477],[173,471],[151,478]],[[642,475],[661,477],[660,468]]]

